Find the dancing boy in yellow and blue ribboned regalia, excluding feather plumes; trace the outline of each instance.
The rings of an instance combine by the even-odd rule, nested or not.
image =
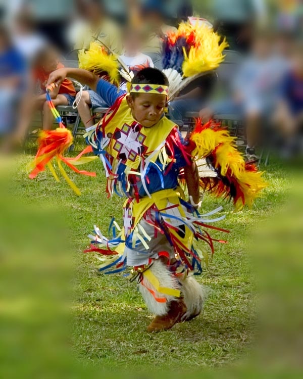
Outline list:
[[[104,164],[109,195],[127,198],[123,230],[113,221],[109,240],[95,226],[89,252],[111,256],[99,266],[105,273],[132,267],[131,280],[138,282],[155,314],[147,331],[168,330],[196,317],[206,296],[191,276],[201,272],[201,261],[206,259],[197,241],[213,248],[213,239],[204,229],[224,216],[207,219],[221,208],[208,215],[196,211],[199,176],[191,144],[164,116],[167,78],[157,69],[143,69],[134,76],[127,94],[91,72],[63,68],[51,75],[49,83],[59,85],[67,76],[89,85],[112,107],[97,127],[87,129],[86,139]],[[180,174],[189,202],[179,185]]]

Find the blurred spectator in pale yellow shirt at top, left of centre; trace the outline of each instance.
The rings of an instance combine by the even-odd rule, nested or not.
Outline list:
[[[114,21],[105,13],[100,0],[77,0],[79,16],[84,20],[85,26],[78,31],[75,50],[89,49],[90,42],[105,43],[108,48],[121,54],[121,32]]]

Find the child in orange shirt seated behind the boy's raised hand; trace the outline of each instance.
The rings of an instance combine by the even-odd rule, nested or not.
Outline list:
[[[64,65],[59,62],[58,54],[55,49],[48,47],[38,54],[35,63],[35,80],[40,82],[40,89],[44,92],[35,97],[35,109],[43,110],[43,129],[49,130],[53,127],[54,117],[49,109],[45,97],[46,83],[49,75]],[[60,87],[56,87],[51,93],[51,98],[55,107],[59,105],[72,106],[75,101],[76,90],[69,79],[65,79]]]

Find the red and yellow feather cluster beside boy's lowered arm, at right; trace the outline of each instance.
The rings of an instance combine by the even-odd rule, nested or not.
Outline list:
[[[214,121],[205,125],[197,120],[190,136],[191,155],[206,159],[217,172],[217,177],[200,178],[200,186],[217,197],[231,197],[236,210],[252,206],[267,187],[263,172],[251,163],[245,163],[237,150],[235,138]]]

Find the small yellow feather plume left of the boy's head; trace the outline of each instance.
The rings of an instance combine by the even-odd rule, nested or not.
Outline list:
[[[106,72],[110,81],[119,84],[119,63],[117,56],[108,54],[103,46],[91,42],[88,51],[80,50],[79,68],[93,72],[100,76]]]

